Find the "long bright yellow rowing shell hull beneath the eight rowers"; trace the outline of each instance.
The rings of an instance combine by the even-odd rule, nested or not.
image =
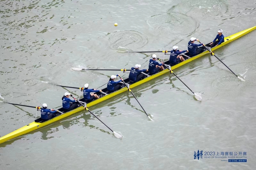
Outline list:
[[[218,48],[220,48],[220,47],[222,47],[222,46],[225,46],[226,44],[228,44],[228,43],[230,43],[230,42],[236,40],[237,38],[240,38],[240,37],[242,37],[243,35],[245,35],[245,34],[247,34],[247,33],[250,33],[250,32],[251,32],[252,30],[254,30],[254,29],[256,29],[256,26],[251,27],[251,28],[248,28],[248,29],[246,29],[246,30],[244,30],[244,31],[241,31],[241,32],[239,32],[239,33],[235,33],[235,34],[233,34],[233,35],[230,35],[229,37],[225,37],[225,39],[224,39],[225,42],[223,42],[223,43],[221,43],[220,45],[218,45],[218,46],[212,48],[212,50],[215,50],[215,49],[218,49]],[[206,53],[208,53],[208,51],[204,51],[204,52],[201,53],[200,55],[197,55],[197,56],[195,56],[195,57],[189,58],[189,59],[185,60],[184,62],[178,63],[178,64],[172,66],[171,69],[174,70],[174,69],[176,69],[176,68],[178,68],[178,67],[180,67],[180,66],[182,66],[182,65],[184,65],[184,64],[186,64],[186,63],[189,63],[189,62],[191,62],[191,61],[193,61],[193,60],[195,60],[195,59],[197,59],[197,58],[199,58],[199,57],[202,57],[202,56],[205,55]],[[152,80],[152,79],[154,79],[154,78],[156,78],[156,77],[159,77],[159,76],[161,76],[161,75],[163,75],[163,74],[165,74],[165,73],[169,73],[169,70],[168,70],[168,69],[165,69],[165,70],[163,70],[163,71],[161,71],[161,72],[158,72],[158,73],[156,73],[156,74],[154,74],[154,75],[152,75],[152,76],[149,76],[149,77],[147,77],[147,78],[144,78],[143,80],[138,81],[138,82],[136,82],[136,83],[130,85],[130,88],[133,88],[133,87],[136,87],[136,86],[138,86],[138,85],[141,85],[141,84],[143,84],[143,83],[145,83],[145,82],[147,82],[147,81],[149,81],[149,80]],[[94,100],[94,101],[88,103],[88,104],[87,104],[87,107],[91,107],[91,106],[93,106],[93,105],[95,105],[95,104],[98,104],[98,103],[104,101],[104,100],[110,99],[111,97],[114,97],[114,96],[116,96],[116,95],[118,95],[118,94],[120,94],[120,93],[122,93],[122,92],[128,92],[127,88],[126,88],[126,87],[125,87],[125,88],[122,88],[122,89],[120,89],[120,90],[118,90],[118,91],[116,91],[116,92],[110,93],[110,94],[108,94],[108,95],[105,95],[105,96],[103,96],[103,97],[97,99],[97,100]],[[61,119],[65,118],[65,117],[68,117],[68,116],[70,116],[70,115],[73,115],[73,114],[75,114],[75,113],[77,113],[77,112],[79,112],[79,111],[82,111],[82,110],[84,110],[84,107],[78,107],[78,108],[76,108],[76,109],[74,109],[74,110],[72,110],[72,111],[70,111],[70,112],[67,112],[67,113],[65,113],[65,114],[59,115],[59,116],[57,116],[57,117],[54,117],[53,119],[50,119],[50,120],[48,120],[48,121],[46,121],[46,122],[42,122],[42,123],[32,122],[32,123],[29,123],[28,125],[23,126],[22,128],[17,129],[17,130],[15,130],[15,131],[13,131],[12,133],[9,133],[8,135],[5,135],[5,136],[1,137],[1,138],[0,138],[0,144],[3,143],[3,142],[5,142],[5,141],[8,141],[8,140],[10,140],[10,139],[13,139],[13,138],[15,138],[15,137],[19,137],[19,136],[24,135],[24,134],[26,134],[26,133],[29,133],[29,132],[31,132],[31,131],[37,130],[37,129],[42,128],[42,127],[44,127],[44,126],[47,126],[47,125],[49,125],[49,124],[51,124],[51,123],[53,123],[53,122],[56,122],[56,121],[58,121],[58,120],[61,120]]]

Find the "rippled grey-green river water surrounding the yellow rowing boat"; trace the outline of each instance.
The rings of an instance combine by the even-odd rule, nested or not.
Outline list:
[[[254,0],[0,4],[0,92],[8,102],[32,106],[46,102],[59,107],[67,90],[79,94],[41,81],[97,88],[112,74],[121,74],[75,72],[70,67],[129,69],[139,63],[147,68],[150,56],[119,53],[120,47],[186,49],[191,36],[208,43],[219,29],[228,36],[256,25]],[[245,82],[206,55],[175,70],[194,92],[202,93],[202,102],[165,74],[133,89],[154,122],[123,93],[90,108],[123,139],[112,137],[87,112],[79,112],[0,144],[0,169],[254,169],[255,36],[251,32],[215,51]],[[0,107],[0,136],[34,121],[32,108]],[[247,162],[197,160],[197,150],[247,152]]]

